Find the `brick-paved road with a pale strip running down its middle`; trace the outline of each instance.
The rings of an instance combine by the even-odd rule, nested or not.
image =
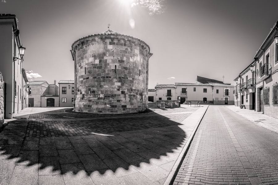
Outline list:
[[[210,106],[173,184],[278,184],[278,134]]]

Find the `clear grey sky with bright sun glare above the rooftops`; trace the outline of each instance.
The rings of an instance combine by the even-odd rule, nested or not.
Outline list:
[[[110,23],[150,46],[149,88],[197,75],[233,83],[278,19],[277,0],[150,1],[0,0],[0,13],[17,16],[23,68],[41,76],[29,81],[74,80],[71,44]]]

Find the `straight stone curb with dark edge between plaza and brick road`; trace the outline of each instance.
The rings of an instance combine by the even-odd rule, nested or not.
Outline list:
[[[209,107],[209,105],[208,105],[208,107]],[[192,133],[190,134],[190,136],[189,136],[187,142],[186,142],[185,145],[183,146],[183,149],[182,149],[181,153],[179,154],[179,157],[177,158],[177,160],[176,160],[174,166],[172,167],[172,169],[171,169],[169,175],[167,176],[167,179],[166,179],[165,182],[163,183],[163,185],[171,185],[171,184],[173,184],[173,181],[174,181],[174,179],[175,179],[175,177],[176,177],[176,175],[177,175],[177,173],[178,173],[178,171],[179,171],[179,167],[181,166],[181,164],[182,164],[182,162],[183,162],[183,159],[184,159],[184,157],[185,157],[186,154],[187,154],[187,151],[188,151],[188,149],[189,149],[189,147],[190,147],[190,145],[191,145],[191,142],[192,142],[192,140],[193,140],[193,138],[194,138],[194,135],[195,135],[195,133],[196,133],[196,131],[197,131],[197,129],[198,129],[198,127],[199,127],[201,121],[203,120],[203,117],[204,117],[205,113],[207,112],[208,107],[207,107],[207,109],[204,111],[204,113],[202,114],[202,116],[200,117],[200,119],[199,119],[197,125],[195,126],[195,128],[194,128],[194,130],[192,131]]]

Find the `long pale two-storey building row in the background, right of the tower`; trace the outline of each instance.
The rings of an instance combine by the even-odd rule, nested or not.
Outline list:
[[[231,84],[197,76],[195,83],[158,84],[153,96],[154,101],[179,100],[181,104],[200,101],[201,104],[234,105],[233,89]]]

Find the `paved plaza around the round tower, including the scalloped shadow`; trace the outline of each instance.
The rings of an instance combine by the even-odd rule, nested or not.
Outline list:
[[[0,133],[0,185],[163,184],[205,109],[94,117],[28,108]]]

